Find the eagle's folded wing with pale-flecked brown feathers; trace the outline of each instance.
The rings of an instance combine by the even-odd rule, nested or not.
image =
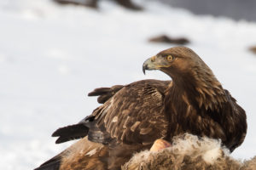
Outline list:
[[[119,89],[92,113],[88,139],[104,144],[149,144],[166,135],[164,92],[170,81],[143,80]]]

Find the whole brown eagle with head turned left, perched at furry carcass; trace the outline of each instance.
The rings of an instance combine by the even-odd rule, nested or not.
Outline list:
[[[230,151],[243,142],[245,111],[191,49],[166,49],[147,59],[145,70],[163,71],[172,82],[143,80],[96,88],[90,95],[98,95],[103,105],[78,124],[53,133],[57,143],[84,139],[37,169],[120,169],[155,139],[172,142],[183,133],[221,139]]]

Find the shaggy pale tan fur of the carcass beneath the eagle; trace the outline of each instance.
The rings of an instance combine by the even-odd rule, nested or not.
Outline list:
[[[256,156],[237,161],[221,146],[221,141],[184,134],[173,139],[172,147],[159,151],[144,150],[135,154],[122,170],[253,170]]]

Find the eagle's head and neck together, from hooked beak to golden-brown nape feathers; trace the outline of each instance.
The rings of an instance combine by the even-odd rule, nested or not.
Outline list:
[[[214,103],[226,100],[224,89],[212,70],[190,48],[174,47],[161,51],[143,63],[143,72],[146,70],[165,72],[172,77],[172,84],[197,100],[199,107],[213,107]]]

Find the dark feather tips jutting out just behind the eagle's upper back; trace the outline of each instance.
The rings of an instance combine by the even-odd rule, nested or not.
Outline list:
[[[111,88],[96,88],[94,91],[90,92],[88,96],[99,96],[97,101],[100,104],[105,103],[108,99],[117,93],[121,88],[124,88],[122,85],[116,85]]]

